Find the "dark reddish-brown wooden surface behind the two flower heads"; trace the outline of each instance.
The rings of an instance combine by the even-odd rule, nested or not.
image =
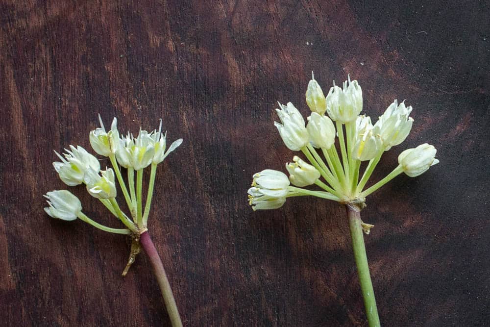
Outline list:
[[[127,239],[43,211],[66,187],[53,150],[90,149],[100,113],[133,133],[163,118],[184,139],[158,168],[149,228],[186,326],[367,326],[344,209],[246,201],[253,173],[294,155],[274,108],[306,116],[312,70],[324,90],[358,79],[372,117],[414,107],[375,178],[403,149],[438,149],[441,164],[362,213],[384,326],[487,324],[489,2],[436,2],[1,1],[0,325],[168,324],[147,258],[121,277]]]

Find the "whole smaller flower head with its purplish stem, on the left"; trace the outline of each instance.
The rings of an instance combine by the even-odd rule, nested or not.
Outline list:
[[[61,161],[53,162],[53,166],[65,184],[69,186],[84,184],[87,192],[98,199],[112,215],[123,223],[125,228],[105,226],[89,218],[82,212],[82,205],[78,198],[66,190],[48,192],[45,197],[48,199],[49,206],[45,208],[45,211],[52,218],[66,221],[73,221],[78,218],[105,232],[128,235],[132,240],[131,251],[123,276],[127,274],[136,255],[143,248],[150,258],[172,326],[182,326],[167,274],[147,228],[157,165],[163,162],[170,152],[180,146],[182,139],[174,141],[167,148],[167,135],[162,133],[161,120],[158,131],[153,130],[148,133],[140,128],[136,138],[129,132],[126,136],[120,136],[116,118],[114,118],[109,131],[106,131],[100,115],[99,121],[100,127],[90,132],[89,141],[94,151],[109,158],[112,168],[101,170],[98,159],[80,146],[76,148],[70,146],[70,150],[65,149],[64,156],[56,152]],[[119,166],[127,170],[129,187],[126,186]],[[143,213],[143,172],[148,166],[151,166],[151,173]],[[135,171],[136,183],[134,180]],[[123,212],[116,200],[117,182],[129,208],[129,216]]]

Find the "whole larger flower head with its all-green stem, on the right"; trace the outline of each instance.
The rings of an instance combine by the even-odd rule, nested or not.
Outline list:
[[[362,89],[356,80],[351,81],[348,76],[342,88],[334,82],[325,97],[313,74],[306,91],[306,104],[311,110],[306,125],[291,102],[279,103],[276,111],[280,123],[274,123],[286,147],[300,151],[305,158],[295,155],[293,162],[286,164],[289,176],[271,169],[254,174],[247,192],[248,202],[253,210],[277,209],[288,198],[297,196],[344,204],[368,325],[380,326],[363,236],[363,231],[369,234],[373,225],[361,220],[361,210],[366,206],[366,197],[394,177],[402,173],[416,177],[439,163],[435,158],[437,151],[432,145],[422,144],[401,152],[398,166],[366,188],[383,153],[408,136],[414,121],[409,117],[412,107],[395,100],[373,125],[368,116],[360,115]],[[361,172],[363,161],[368,164]],[[313,185],[320,190],[312,189]]]

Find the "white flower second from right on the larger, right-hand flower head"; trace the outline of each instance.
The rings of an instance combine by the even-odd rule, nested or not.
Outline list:
[[[409,117],[410,112],[412,112],[412,106],[406,107],[405,101],[398,105],[398,101],[395,100],[379,117],[375,126],[379,128],[385,151],[402,143],[407,138],[414,122],[414,119]]]

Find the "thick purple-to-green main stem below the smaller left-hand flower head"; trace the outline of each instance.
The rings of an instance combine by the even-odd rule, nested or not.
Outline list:
[[[141,234],[140,243],[150,259],[151,266],[153,267],[153,273],[155,274],[158,286],[160,286],[160,291],[162,292],[163,301],[167,307],[167,312],[169,313],[172,327],[182,327],[182,321],[180,320],[177,304],[173,298],[169,278],[167,278],[160,255],[158,255],[155,245],[151,241],[150,235],[147,231]]]

